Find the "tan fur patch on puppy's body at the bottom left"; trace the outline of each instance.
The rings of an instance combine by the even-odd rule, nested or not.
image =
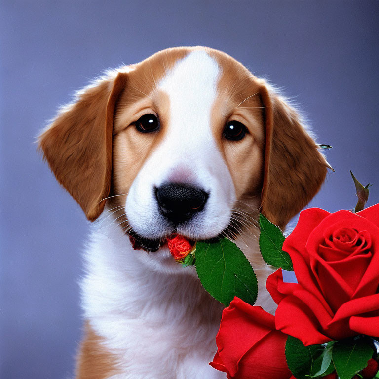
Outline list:
[[[76,379],[106,379],[117,374],[116,357],[104,348],[102,341],[87,321],[77,356]]]

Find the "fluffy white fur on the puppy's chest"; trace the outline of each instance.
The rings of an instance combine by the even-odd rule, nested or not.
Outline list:
[[[201,287],[194,269],[183,273],[161,249],[149,255],[166,255],[178,273],[154,271],[143,264],[148,253],[133,250],[118,227],[99,224],[85,252],[82,306],[107,350],[119,358],[123,374],[112,378],[225,378],[208,365],[223,306]]]

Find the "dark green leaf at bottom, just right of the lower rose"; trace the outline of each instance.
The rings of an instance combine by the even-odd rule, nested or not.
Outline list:
[[[309,379],[321,370],[322,359],[318,358],[324,352],[323,345],[304,346],[295,337],[288,336],[286,342],[286,360],[288,368],[297,379]]]

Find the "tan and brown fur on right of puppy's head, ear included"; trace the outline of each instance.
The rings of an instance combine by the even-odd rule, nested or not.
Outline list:
[[[211,55],[223,70],[212,113],[213,131],[240,201],[236,208],[251,209],[262,192],[260,211],[284,229],[318,192],[328,164],[296,111],[269,91],[264,80],[227,54],[212,51]],[[241,141],[222,138],[231,120],[242,122],[249,131]]]

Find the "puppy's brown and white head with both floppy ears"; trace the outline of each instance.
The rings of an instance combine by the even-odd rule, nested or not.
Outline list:
[[[77,93],[39,144],[89,220],[107,202],[125,232],[148,240],[235,234],[258,212],[285,227],[327,168],[290,105],[203,47],[108,72]]]

